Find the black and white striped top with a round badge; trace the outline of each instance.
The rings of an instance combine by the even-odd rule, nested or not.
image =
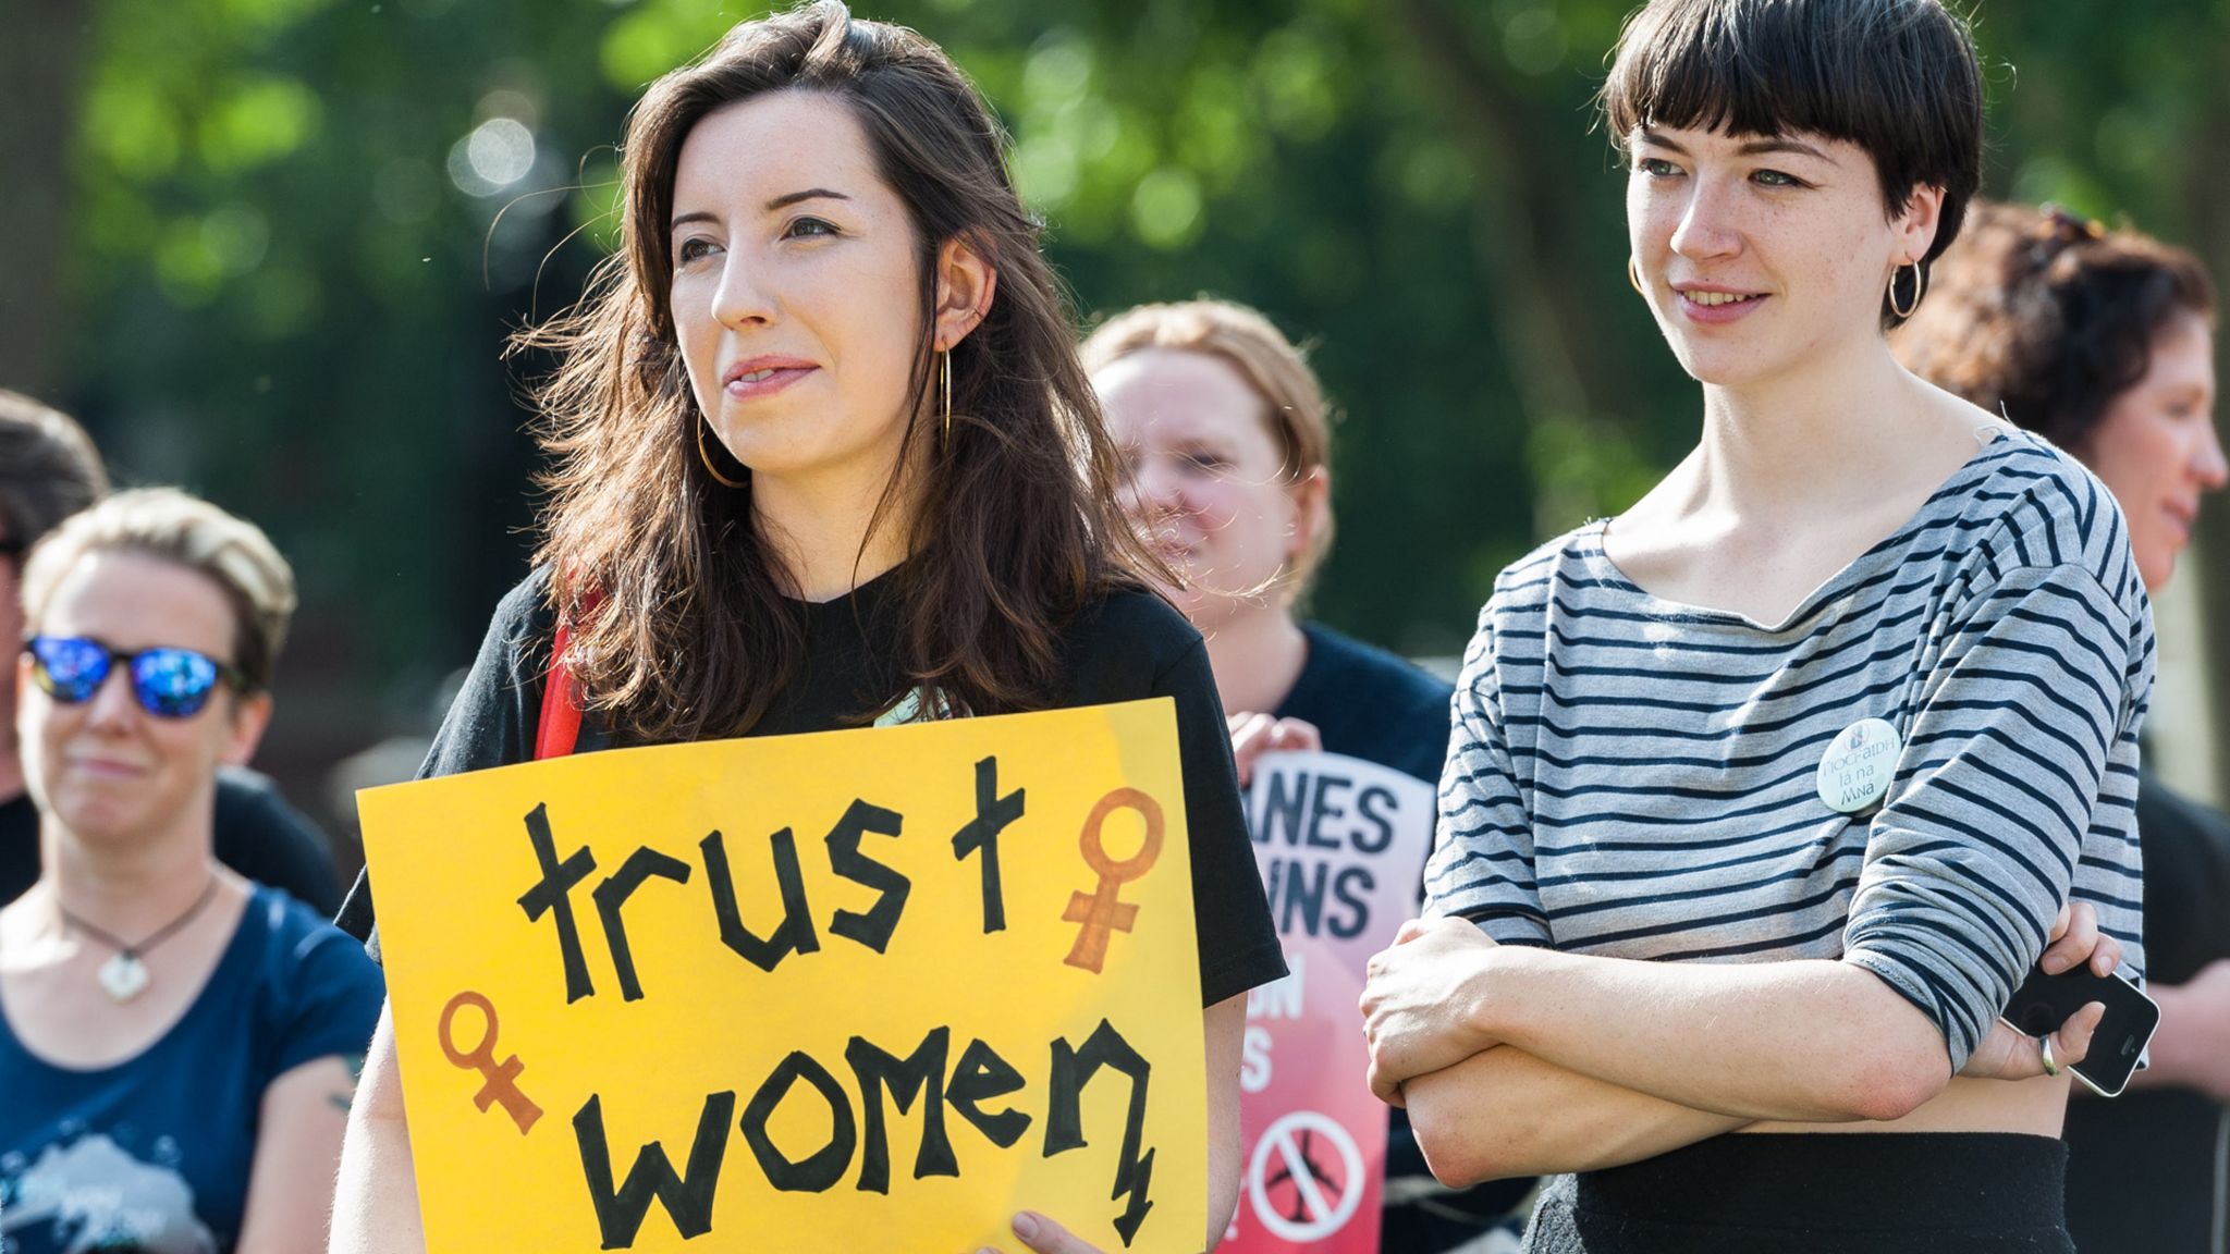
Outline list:
[[[1478,616],[1427,913],[1574,953],[1855,962],[1956,1071],[2069,893],[2143,973],[2152,660],[2114,498],[2023,433],[1777,627],[1650,596],[1592,522]],[[1887,801],[1840,814],[1815,772],[1860,718],[1904,747]]]

